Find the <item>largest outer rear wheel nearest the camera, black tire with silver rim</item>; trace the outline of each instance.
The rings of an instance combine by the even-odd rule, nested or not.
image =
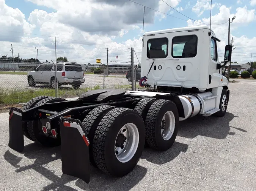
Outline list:
[[[124,125],[127,131],[123,129]],[[125,139],[125,132],[127,139]],[[137,136],[133,136],[133,132]],[[140,115],[132,109],[112,109],[105,114],[96,128],[93,137],[94,161],[103,172],[114,176],[124,176],[137,165],[144,142],[145,128]],[[129,143],[134,143],[135,146]],[[120,144],[125,145],[122,148]],[[116,152],[117,149],[119,152]]]

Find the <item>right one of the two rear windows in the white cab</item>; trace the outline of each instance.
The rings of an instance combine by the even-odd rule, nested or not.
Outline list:
[[[173,58],[195,57],[197,53],[197,40],[196,35],[173,37],[171,56]]]

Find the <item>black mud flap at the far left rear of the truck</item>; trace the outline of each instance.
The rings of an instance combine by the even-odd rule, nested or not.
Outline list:
[[[24,123],[22,122],[22,110],[12,107],[9,112],[9,144],[8,146],[18,152],[24,150]]]

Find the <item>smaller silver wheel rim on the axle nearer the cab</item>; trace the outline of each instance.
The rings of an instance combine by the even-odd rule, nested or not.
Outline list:
[[[173,136],[175,129],[175,116],[172,111],[167,111],[161,122],[161,135],[164,140],[169,140]]]

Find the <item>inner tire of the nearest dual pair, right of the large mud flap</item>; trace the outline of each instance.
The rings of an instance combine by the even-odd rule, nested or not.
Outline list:
[[[116,107],[110,106],[110,105],[103,105],[99,106],[97,108],[94,108],[91,110],[86,116],[85,119],[83,120],[83,126],[85,127],[85,130],[88,132],[88,139],[90,141],[89,145],[89,157],[90,157],[90,162],[93,164],[93,166],[97,167],[96,163],[94,162],[93,159],[93,137],[95,130],[97,126],[99,125],[99,122],[101,122],[102,117],[111,109],[114,109]]]

